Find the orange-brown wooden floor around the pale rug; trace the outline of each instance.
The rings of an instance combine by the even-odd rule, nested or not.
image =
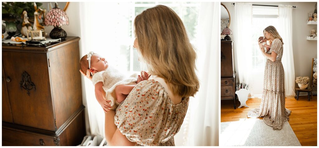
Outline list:
[[[261,99],[248,99],[246,104],[249,108],[241,107],[234,109],[233,100],[221,100],[221,122],[238,121],[247,118],[247,113],[253,108],[258,108]],[[236,100],[238,107],[240,102]],[[299,96],[297,101],[294,97],[286,98],[286,108],[291,110],[289,124],[302,146],[317,146],[317,96],[308,101],[307,96]],[[262,119],[262,118],[260,118]]]

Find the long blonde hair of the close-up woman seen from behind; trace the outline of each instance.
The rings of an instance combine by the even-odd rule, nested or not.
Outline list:
[[[157,5],[134,20],[137,50],[150,74],[163,78],[174,94],[194,96],[199,88],[196,52],[185,27],[169,7]]]

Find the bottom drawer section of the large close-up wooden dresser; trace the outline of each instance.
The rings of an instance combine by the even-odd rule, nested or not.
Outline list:
[[[85,136],[84,106],[57,132],[44,133],[29,127],[2,126],[2,146],[77,146]]]

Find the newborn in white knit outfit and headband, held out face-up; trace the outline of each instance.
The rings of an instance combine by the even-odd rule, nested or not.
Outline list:
[[[108,65],[105,58],[90,52],[80,60],[80,69],[82,71],[90,70],[92,82],[95,87],[95,97],[103,110],[115,110],[128,96],[135,84],[147,80],[149,75],[141,71],[141,75],[132,74],[125,78],[124,74]]]

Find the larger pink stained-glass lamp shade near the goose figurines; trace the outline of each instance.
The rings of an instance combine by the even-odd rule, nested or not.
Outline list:
[[[56,5],[47,13],[44,23],[47,26],[61,27],[69,25],[69,17]]]

